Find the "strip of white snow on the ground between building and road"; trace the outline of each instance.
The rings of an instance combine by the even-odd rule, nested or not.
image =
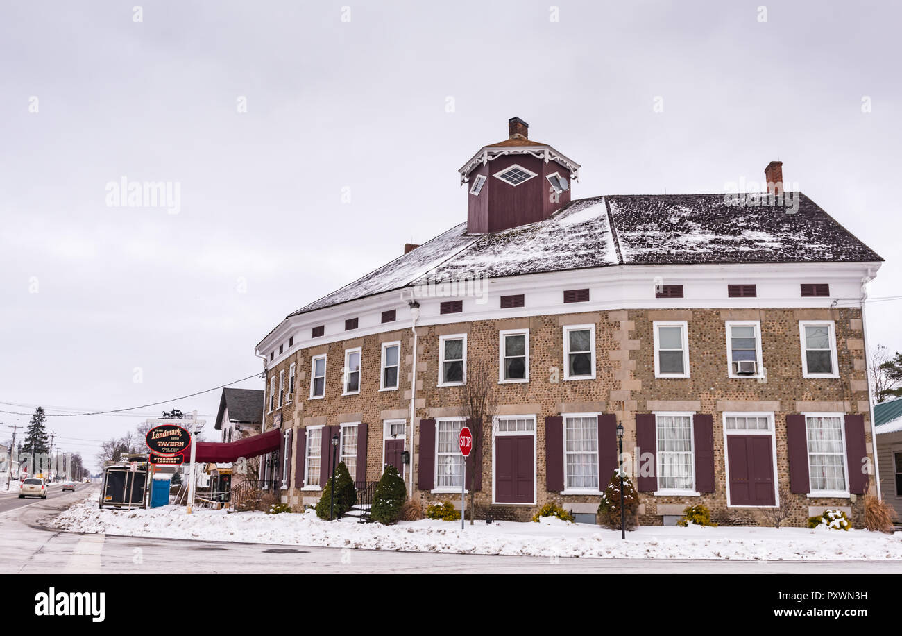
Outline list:
[[[262,512],[195,510],[163,506],[152,510],[98,510],[94,497],[56,518],[61,530],[132,537],[238,541],[327,548],[411,552],[581,558],[700,558],[761,560],[902,559],[902,533],[803,528],[703,528],[642,526],[627,532],[548,520],[496,521],[475,526],[460,521],[378,523],[320,521],[312,511]]]

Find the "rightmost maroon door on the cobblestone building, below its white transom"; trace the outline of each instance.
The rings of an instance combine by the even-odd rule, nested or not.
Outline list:
[[[772,506],[774,465],[769,435],[728,435],[730,505]]]

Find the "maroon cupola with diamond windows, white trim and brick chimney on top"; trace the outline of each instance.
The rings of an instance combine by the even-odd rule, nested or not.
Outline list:
[[[508,138],[483,146],[460,169],[467,185],[467,232],[486,234],[535,223],[570,202],[579,164],[529,139],[529,124],[508,120]]]

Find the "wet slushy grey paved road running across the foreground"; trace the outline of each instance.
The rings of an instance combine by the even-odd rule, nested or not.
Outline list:
[[[97,486],[87,486],[97,491]],[[690,561],[491,557],[134,539],[52,530],[49,521],[85,496],[55,493],[0,512],[0,574],[899,574],[887,561]],[[16,502],[19,500],[16,499]],[[5,503],[5,502],[4,502]]]

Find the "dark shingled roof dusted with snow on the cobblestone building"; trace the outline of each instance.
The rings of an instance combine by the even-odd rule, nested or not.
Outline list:
[[[762,195],[741,195],[761,203]],[[797,211],[731,205],[723,194],[571,201],[551,217],[486,235],[462,223],[290,314],[458,276],[498,278],[621,264],[872,263],[867,245],[798,192]],[[763,201],[766,203],[766,201]]]

